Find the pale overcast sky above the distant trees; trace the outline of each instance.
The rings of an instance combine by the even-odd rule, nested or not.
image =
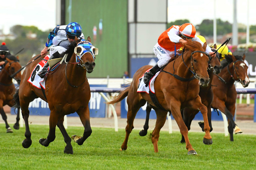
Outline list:
[[[249,24],[256,25],[256,0],[248,1]],[[203,19],[214,18],[214,0],[168,0],[168,6],[168,22],[188,19],[196,25]],[[233,23],[233,0],[216,0],[216,7],[216,18]],[[53,29],[56,26],[56,0],[1,0],[0,18],[0,29],[5,34],[17,24],[33,25],[43,31]],[[247,24],[247,0],[237,0],[237,21]]]

